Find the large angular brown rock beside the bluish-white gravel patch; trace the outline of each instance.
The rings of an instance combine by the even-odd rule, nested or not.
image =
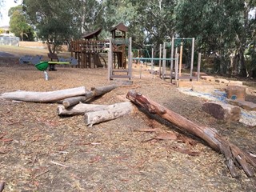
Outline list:
[[[225,122],[238,121],[241,118],[241,109],[238,106],[222,102],[205,102],[202,110]]]

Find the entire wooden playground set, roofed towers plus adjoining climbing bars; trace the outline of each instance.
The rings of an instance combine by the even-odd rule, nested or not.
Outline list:
[[[98,68],[103,67],[102,61],[106,60],[102,57],[101,53],[105,52],[106,45],[108,48],[108,79],[114,78],[129,78],[131,79],[132,61],[149,61],[151,62],[151,70],[154,70],[154,62],[159,63],[159,78],[170,78],[170,82],[179,80],[193,81],[199,80],[201,54],[198,54],[198,70],[197,75],[194,76],[194,38],[172,38],[171,42],[164,42],[163,46],[160,45],[159,57],[154,58],[154,49],[152,48],[152,55],[148,54],[148,58],[137,57],[133,58],[132,41],[131,38],[126,38],[127,28],[121,23],[114,26],[110,32],[112,37],[108,40],[98,40],[98,34],[102,29],[94,30],[89,34],[82,36],[84,39],[79,39],[71,42],[71,57],[78,60],[78,68]],[[190,74],[182,74],[182,54],[183,46],[186,44],[190,47]],[[169,50],[168,50],[169,49]],[[186,47],[187,50],[189,50]],[[128,50],[128,51],[127,51]],[[167,58],[167,53],[170,58]],[[127,59],[128,58],[128,59]],[[170,63],[170,72],[167,72],[166,61]],[[128,65],[127,65],[128,64]]]

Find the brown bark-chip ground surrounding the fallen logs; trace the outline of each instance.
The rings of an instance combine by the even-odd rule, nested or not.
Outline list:
[[[242,149],[256,152],[255,127],[226,124],[202,111],[204,100],[178,92],[143,68],[134,68],[133,85],[116,90],[93,103],[122,102],[135,89],[154,101],[220,134]],[[137,73],[137,74],[136,74]],[[32,65],[18,58],[0,58],[0,94],[15,90],[50,91],[76,86],[108,85],[106,69],[58,67],[46,82]],[[251,96],[252,102],[256,99]],[[58,104],[0,100],[0,182],[4,191],[255,191],[255,178],[234,179],[225,159],[198,140],[190,146],[170,140],[150,140],[158,133],[139,129],[176,127],[138,110],[114,121],[86,127],[82,116],[59,118]],[[148,141],[150,140],[150,141]],[[147,142],[148,141],[148,142]],[[180,147],[200,152],[182,154]]]

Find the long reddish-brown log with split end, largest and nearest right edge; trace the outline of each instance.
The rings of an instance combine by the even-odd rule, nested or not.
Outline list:
[[[158,114],[161,118],[173,123],[181,130],[194,134],[198,138],[202,138],[202,140],[207,142],[214,150],[224,154],[226,165],[228,166],[232,177],[238,177],[238,172],[235,169],[235,166],[242,168],[248,177],[254,176],[254,169],[251,166],[256,168],[255,158],[239,149],[238,146],[226,141],[225,138],[218,134],[217,130],[207,126],[199,126],[187,118],[182,117],[182,115],[166,109],[166,107],[159,105],[157,102],[154,102],[133,90],[128,92],[126,98],[130,99],[131,102],[134,102],[138,106],[142,106],[150,113]]]

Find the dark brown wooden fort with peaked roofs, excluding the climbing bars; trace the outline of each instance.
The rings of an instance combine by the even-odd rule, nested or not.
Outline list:
[[[94,30],[89,34],[82,36],[82,39],[74,40],[70,43],[71,57],[78,60],[78,68],[96,68],[103,67],[102,61],[106,60],[101,53],[106,51],[106,45],[111,45],[110,50],[113,53],[114,69],[126,68],[126,31],[127,27],[121,23],[114,26],[110,32],[112,34],[112,41],[98,40],[98,34],[102,29]]]

